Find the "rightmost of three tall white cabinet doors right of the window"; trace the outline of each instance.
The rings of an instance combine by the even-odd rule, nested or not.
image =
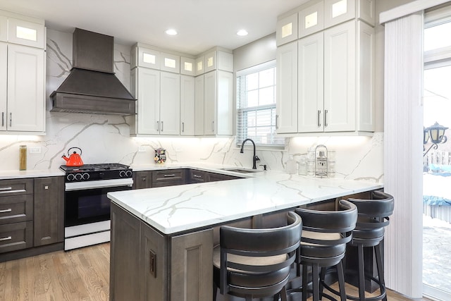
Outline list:
[[[324,32],[324,131],[356,130],[355,22]]]

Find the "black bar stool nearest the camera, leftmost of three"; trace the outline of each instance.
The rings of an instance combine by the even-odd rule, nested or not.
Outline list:
[[[248,229],[221,226],[220,245],[214,248],[214,299],[221,295],[244,297],[279,296],[287,300],[285,285],[295,262],[302,220],[288,212],[288,226]]]

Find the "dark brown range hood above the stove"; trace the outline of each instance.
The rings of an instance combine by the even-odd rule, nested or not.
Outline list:
[[[75,28],[73,68],[50,94],[52,112],[135,114],[135,97],[113,73],[114,38]]]

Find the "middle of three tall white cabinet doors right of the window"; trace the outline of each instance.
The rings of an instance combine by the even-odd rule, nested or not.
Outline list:
[[[324,35],[299,39],[299,133],[323,131]]]

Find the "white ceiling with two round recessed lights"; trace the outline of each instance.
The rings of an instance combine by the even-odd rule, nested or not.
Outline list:
[[[0,9],[46,20],[50,29],[75,27],[196,55],[214,46],[236,49],[276,31],[277,16],[308,0],[0,0]],[[168,36],[168,28],[178,35]],[[246,37],[237,30],[249,32]]]

